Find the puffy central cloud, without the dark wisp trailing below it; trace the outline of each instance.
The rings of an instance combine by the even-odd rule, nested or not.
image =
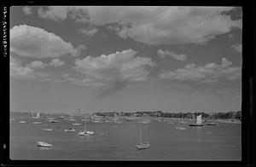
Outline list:
[[[135,57],[136,54],[136,51],[127,49],[98,57],[89,55],[83,60],[77,59],[74,68],[94,83],[144,81],[149,74],[146,68],[155,63],[148,57]]]

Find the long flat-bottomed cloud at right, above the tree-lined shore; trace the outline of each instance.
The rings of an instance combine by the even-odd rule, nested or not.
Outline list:
[[[189,64],[183,69],[161,72],[160,78],[200,83],[214,83],[219,79],[230,81],[241,79],[241,67],[231,65],[232,62],[225,58],[222,59],[221,64],[208,63],[205,66]]]

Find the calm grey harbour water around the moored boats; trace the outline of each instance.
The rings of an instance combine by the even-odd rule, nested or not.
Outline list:
[[[79,136],[84,125],[73,126],[77,132],[65,132],[71,121],[49,123],[46,118],[32,119],[30,114],[12,114],[10,124],[10,158],[53,160],[241,160],[241,124],[189,127],[176,130],[177,123],[143,124],[150,147],[137,150],[137,122],[87,123],[95,135]],[[26,124],[20,124],[20,120]],[[32,124],[32,122],[42,124]],[[53,131],[44,131],[45,124]],[[53,144],[52,148],[37,147],[37,141]]]

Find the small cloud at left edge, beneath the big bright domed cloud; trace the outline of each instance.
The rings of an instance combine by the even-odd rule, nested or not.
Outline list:
[[[35,78],[34,71],[27,67],[21,66],[19,60],[15,60],[13,57],[10,57],[10,75],[15,78]]]

